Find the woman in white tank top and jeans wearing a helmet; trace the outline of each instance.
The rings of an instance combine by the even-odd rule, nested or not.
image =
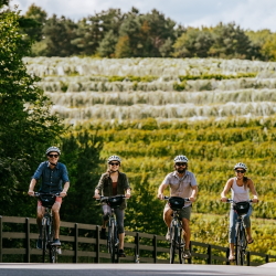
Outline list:
[[[258,202],[257,192],[255,190],[253,181],[245,177],[245,172],[247,167],[245,163],[236,163],[234,167],[235,177],[227,180],[222,193],[221,193],[221,201],[226,202],[226,193],[231,190],[232,191],[232,200],[235,202],[248,201],[250,200],[250,191],[253,194],[253,202]],[[247,233],[247,242],[248,244],[253,243],[252,233],[251,233],[251,214],[252,214],[252,205],[250,208],[248,213],[244,216],[244,222],[246,226]],[[230,242],[230,261],[234,261],[234,242],[235,242],[235,224],[237,220],[237,214],[234,212],[233,208],[230,211],[230,233],[229,233],[229,242]]]

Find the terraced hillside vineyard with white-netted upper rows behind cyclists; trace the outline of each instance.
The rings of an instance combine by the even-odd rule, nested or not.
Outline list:
[[[259,193],[251,250],[276,254],[276,63],[215,59],[25,57],[28,71],[68,125],[64,139],[103,141],[123,158],[134,188],[126,226],[166,233],[157,189],[183,153],[199,182],[192,238],[227,244],[220,202],[233,166],[245,162]],[[142,208],[144,206],[144,208]],[[145,212],[145,209],[151,212]],[[152,224],[155,224],[152,226]]]

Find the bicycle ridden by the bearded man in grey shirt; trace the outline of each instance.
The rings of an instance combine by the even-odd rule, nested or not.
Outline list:
[[[179,197],[164,197],[168,200],[169,206],[172,209],[172,221],[170,224],[170,264],[174,263],[176,254],[179,256],[179,263],[184,263],[183,248],[185,242],[182,235],[182,220],[180,219],[180,211],[184,206],[189,199],[183,199]]]

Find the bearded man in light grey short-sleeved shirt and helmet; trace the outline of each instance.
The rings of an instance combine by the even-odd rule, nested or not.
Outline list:
[[[170,172],[166,176],[161,185],[158,189],[158,198],[163,200],[163,191],[167,187],[170,187],[170,197],[180,197],[180,198],[189,198],[190,202],[185,202],[184,208],[180,211],[180,217],[182,219],[183,226],[183,237],[185,241],[184,247],[184,258],[190,258],[191,253],[189,250],[191,231],[190,231],[190,216],[192,202],[195,201],[198,194],[198,184],[195,177],[192,172],[188,171],[188,158],[185,156],[177,156],[174,158],[174,171]],[[167,203],[163,209],[163,220],[168,226],[168,233],[166,235],[167,240],[169,240],[169,229],[172,220],[172,210]]]

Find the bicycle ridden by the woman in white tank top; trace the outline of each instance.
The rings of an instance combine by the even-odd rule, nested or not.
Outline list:
[[[227,203],[233,204],[234,211],[237,213],[237,220],[235,225],[235,263],[236,265],[244,265],[246,250],[247,250],[247,238],[244,224],[244,216],[250,210],[250,201],[235,202],[231,199],[227,199]]]

